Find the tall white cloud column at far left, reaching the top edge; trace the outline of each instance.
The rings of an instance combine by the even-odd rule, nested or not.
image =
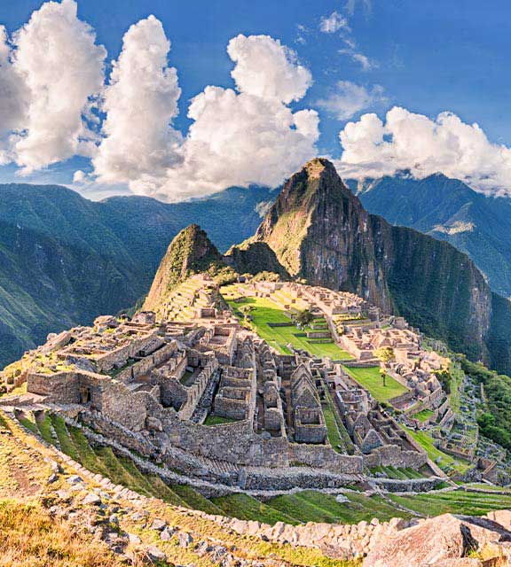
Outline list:
[[[94,151],[83,116],[103,87],[106,50],[77,18],[74,0],[46,2],[13,37],[13,67],[29,91],[13,151],[25,173]]]

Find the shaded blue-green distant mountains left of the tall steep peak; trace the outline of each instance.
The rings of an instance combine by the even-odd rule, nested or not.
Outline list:
[[[92,202],[55,185],[0,185],[0,369],[51,331],[133,306],[180,229],[199,222],[224,251],[254,233],[272,198],[250,187],[171,205]]]

